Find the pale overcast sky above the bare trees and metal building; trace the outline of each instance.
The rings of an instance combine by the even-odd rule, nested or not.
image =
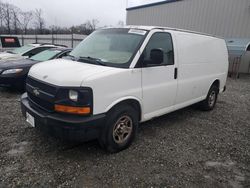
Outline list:
[[[2,0],[21,8],[41,8],[47,26],[72,26],[98,19],[99,27],[126,23],[126,8],[162,0]]]

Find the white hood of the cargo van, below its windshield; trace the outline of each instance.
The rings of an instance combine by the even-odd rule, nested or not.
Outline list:
[[[32,66],[29,76],[56,86],[80,87],[87,78],[114,69],[117,68],[56,59]]]

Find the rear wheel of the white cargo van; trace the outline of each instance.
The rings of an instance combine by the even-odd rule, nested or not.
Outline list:
[[[200,103],[201,110],[213,110],[217,102],[218,93],[219,88],[216,85],[212,85],[208,91],[206,99]]]

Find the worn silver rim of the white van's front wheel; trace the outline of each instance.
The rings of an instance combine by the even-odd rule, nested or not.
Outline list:
[[[122,116],[115,123],[113,139],[117,144],[122,144],[130,137],[133,129],[133,121],[129,116]]]

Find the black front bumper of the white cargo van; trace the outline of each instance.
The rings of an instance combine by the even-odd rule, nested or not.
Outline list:
[[[34,117],[35,128],[63,140],[89,141],[97,139],[105,125],[105,114],[90,117],[73,116],[59,113],[48,113],[30,105],[27,94],[21,97],[22,114]]]

